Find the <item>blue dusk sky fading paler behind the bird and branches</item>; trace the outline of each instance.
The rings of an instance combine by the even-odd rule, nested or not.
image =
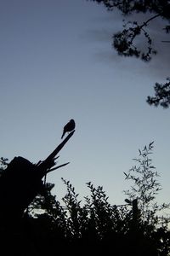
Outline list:
[[[47,177],[58,200],[66,193],[64,177],[80,200],[92,182],[103,186],[111,204],[124,203],[129,183],[123,172],[139,148],[154,141],[162,186],[157,201],[169,202],[170,110],[145,102],[169,75],[169,45],[161,43],[167,36],[162,21],[154,20],[150,33],[159,54],[149,63],[121,57],[111,38],[122,19],[85,0],[1,0],[0,156],[45,160],[75,119],[74,136],[58,160],[70,164]]]

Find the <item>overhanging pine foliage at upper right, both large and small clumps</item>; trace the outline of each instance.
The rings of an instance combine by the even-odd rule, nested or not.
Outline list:
[[[112,46],[116,49],[118,55],[135,56],[143,61],[150,61],[157,50],[154,48],[154,38],[151,38],[148,26],[157,18],[167,22],[162,27],[162,32],[170,32],[170,3],[169,1],[119,1],[119,0],[91,0],[96,3],[102,3],[106,9],[112,11],[118,9],[123,16],[136,15],[136,20],[123,20],[121,32],[113,35]],[[147,18],[142,23],[137,20],[137,15],[143,14]],[[150,17],[148,18],[148,16]],[[133,17],[134,19],[134,17]],[[163,24],[163,23],[162,23]],[[138,38],[144,39],[143,44],[139,44]],[[139,39],[141,41],[141,39]],[[161,41],[162,43],[170,43]],[[155,96],[148,96],[147,102],[155,107],[161,106],[168,108],[170,106],[170,86],[169,79],[164,84],[155,84]]]

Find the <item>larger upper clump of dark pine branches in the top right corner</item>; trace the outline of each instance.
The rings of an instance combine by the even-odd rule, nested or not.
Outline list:
[[[93,0],[97,3],[103,3],[108,10],[119,9],[122,15],[132,15],[133,13],[153,14],[150,19],[144,20],[142,24],[138,24],[135,20],[133,22],[127,22],[124,25],[126,29],[122,32],[117,32],[113,36],[113,46],[117,50],[118,54],[124,56],[136,56],[140,57],[144,61],[150,61],[151,55],[156,54],[156,50],[153,49],[152,38],[145,28],[149,25],[151,20],[161,17],[163,20],[167,20],[167,24],[170,22],[170,3],[169,1],[114,1],[114,0]],[[165,32],[169,32],[169,25],[164,27]],[[143,34],[147,42],[147,51],[144,53],[142,49],[138,49],[133,43],[134,39]]]

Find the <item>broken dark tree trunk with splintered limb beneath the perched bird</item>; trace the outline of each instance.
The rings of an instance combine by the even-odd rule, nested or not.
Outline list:
[[[1,159],[3,166],[7,167],[1,170],[0,176],[0,225],[20,219],[36,195],[43,193],[42,178],[46,177],[48,172],[68,164],[55,166],[55,159],[73,134],[74,131],[71,131],[46,160],[37,164],[32,164],[20,156],[14,157],[8,164],[6,160]]]

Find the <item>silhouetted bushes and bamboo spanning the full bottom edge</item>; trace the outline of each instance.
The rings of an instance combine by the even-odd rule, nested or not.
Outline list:
[[[66,194],[61,204],[52,194],[54,184],[44,183],[42,193],[26,207],[20,221],[15,223],[11,209],[8,218],[14,217],[13,223],[9,221],[4,227],[1,222],[6,254],[12,249],[17,255],[168,255],[169,219],[159,212],[169,205],[156,202],[161,184],[149,157],[152,148],[150,143],[139,150],[136,165],[125,172],[131,189],[124,191],[126,203],[120,206],[111,205],[103,187],[95,188],[91,182],[87,183],[89,195],[82,203],[75,188],[64,178]],[[3,159],[2,164],[5,165]]]

